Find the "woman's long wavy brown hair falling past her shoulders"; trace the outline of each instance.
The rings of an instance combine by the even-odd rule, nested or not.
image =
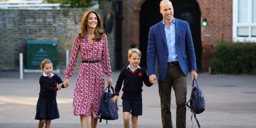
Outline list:
[[[104,34],[105,31],[103,30],[100,15],[97,12],[95,12],[94,10],[88,10],[84,13],[84,16],[83,16],[82,22],[81,22],[81,31],[80,31],[80,33],[78,33],[78,37],[79,37],[80,40],[82,40],[82,38],[86,34],[86,32],[87,32],[86,20],[87,20],[90,13],[94,13],[97,17],[98,23],[97,23],[97,26],[95,27],[95,30],[94,30],[94,35],[95,35],[94,39],[96,41],[100,41],[101,38],[102,38],[102,34]]]

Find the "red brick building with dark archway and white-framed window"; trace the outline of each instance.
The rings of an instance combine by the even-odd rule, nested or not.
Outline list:
[[[160,1],[122,0],[122,61],[124,65],[128,64],[126,55],[128,49],[136,45],[142,51],[141,65],[145,67],[149,27],[162,20],[159,10]],[[256,41],[256,24],[254,24],[256,23],[256,0],[170,1],[174,7],[174,18],[186,20],[190,24],[198,68],[202,71],[208,71],[210,52],[219,40]],[[245,23],[239,22],[244,18],[249,19],[245,21],[248,24],[240,24]],[[203,19],[207,20],[207,26],[202,26]]]

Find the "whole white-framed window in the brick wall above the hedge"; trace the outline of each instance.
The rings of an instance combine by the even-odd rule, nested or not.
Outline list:
[[[256,42],[256,0],[233,0],[233,41]]]

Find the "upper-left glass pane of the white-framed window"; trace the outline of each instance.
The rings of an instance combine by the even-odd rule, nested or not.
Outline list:
[[[238,23],[248,23],[247,22],[247,3],[248,0],[238,0]]]

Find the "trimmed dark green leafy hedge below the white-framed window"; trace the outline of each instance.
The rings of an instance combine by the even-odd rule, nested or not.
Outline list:
[[[210,62],[214,74],[256,75],[256,43],[219,41]]]

